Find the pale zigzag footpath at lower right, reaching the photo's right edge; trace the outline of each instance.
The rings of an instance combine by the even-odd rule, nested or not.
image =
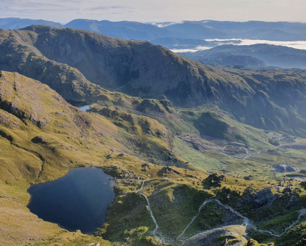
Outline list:
[[[196,214],[196,216],[193,217],[191,222],[188,224],[188,226],[186,226],[186,228],[179,235],[178,238],[181,238],[186,233],[186,231],[188,230],[189,226],[191,226],[191,224],[193,224],[193,221],[195,221],[196,218],[199,216],[199,214],[202,211],[203,207],[205,207],[205,205],[207,205],[209,202],[217,202],[220,206],[224,207],[224,209],[228,209],[232,213],[234,213],[237,216],[241,217],[243,219],[243,224],[247,224],[248,228],[252,228],[253,230],[258,231],[260,233],[267,233],[267,234],[272,235],[272,236],[274,236],[276,238],[281,238],[283,235],[285,235],[285,233],[287,233],[287,231],[289,231],[291,228],[293,228],[293,226],[296,226],[299,223],[300,218],[302,216],[306,215],[306,209],[300,209],[300,212],[299,212],[299,215],[298,215],[298,219],[291,226],[286,228],[285,231],[283,231],[283,233],[281,233],[281,234],[274,234],[271,231],[257,229],[256,226],[254,226],[253,222],[250,221],[250,219],[248,219],[246,216],[243,216],[242,214],[240,214],[238,211],[236,211],[232,207],[229,207],[228,205],[222,204],[222,202],[220,202],[219,200],[217,200],[217,199],[208,199],[208,200],[205,200],[205,202],[203,202],[203,205],[201,205],[200,209],[198,209],[198,214]]]

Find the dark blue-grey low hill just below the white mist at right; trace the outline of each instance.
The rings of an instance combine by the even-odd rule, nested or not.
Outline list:
[[[305,50],[269,44],[250,46],[222,45],[206,51],[180,53],[180,55],[209,65],[238,64],[246,67],[264,67],[262,63],[265,63],[274,67],[306,69]],[[248,60],[252,58],[259,59],[262,60],[262,63],[243,64],[239,60],[241,56],[248,57]]]

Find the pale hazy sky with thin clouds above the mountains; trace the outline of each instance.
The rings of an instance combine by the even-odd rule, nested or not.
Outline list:
[[[0,0],[0,18],[306,22],[305,0]]]

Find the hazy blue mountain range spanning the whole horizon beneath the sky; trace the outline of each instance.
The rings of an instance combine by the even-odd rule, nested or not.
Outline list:
[[[106,34],[120,39],[264,39],[273,41],[305,41],[306,23],[300,22],[224,22],[215,20],[141,23],[132,21],[72,20],[66,25],[46,20],[20,18],[0,19],[0,28],[20,29],[30,25],[71,27]]]

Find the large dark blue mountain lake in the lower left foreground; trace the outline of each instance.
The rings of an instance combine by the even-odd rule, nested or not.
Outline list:
[[[27,207],[68,231],[92,234],[104,224],[106,209],[115,198],[110,178],[98,168],[72,169],[60,179],[31,186]]]

